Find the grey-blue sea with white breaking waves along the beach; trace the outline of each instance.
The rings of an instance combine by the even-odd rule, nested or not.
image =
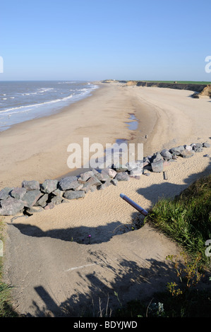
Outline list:
[[[88,81],[0,81],[0,131],[55,114],[97,88]]]

